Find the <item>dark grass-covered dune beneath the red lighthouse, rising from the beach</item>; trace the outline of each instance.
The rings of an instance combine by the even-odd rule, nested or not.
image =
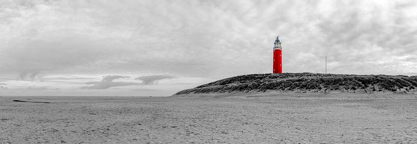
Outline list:
[[[417,76],[347,75],[316,73],[250,74],[217,80],[193,89],[177,92],[210,94],[231,92],[288,93],[410,93],[417,87]]]

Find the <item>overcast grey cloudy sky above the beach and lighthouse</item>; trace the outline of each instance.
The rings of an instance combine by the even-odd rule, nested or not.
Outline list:
[[[417,1],[0,0],[0,95],[170,96],[231,76],[417,75]]]

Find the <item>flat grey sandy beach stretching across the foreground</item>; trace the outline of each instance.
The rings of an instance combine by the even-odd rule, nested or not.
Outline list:
[[[0,143],[417,143],[416,103],[382,94],[2,97]]]

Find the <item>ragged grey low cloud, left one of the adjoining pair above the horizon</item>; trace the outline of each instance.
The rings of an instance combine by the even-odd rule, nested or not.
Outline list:
[[[90,90],[90,89],[109,89],[112,87],[119,87],[119,86],[126,86],[126,85],[138,85],[140,83],[137,82],[122,82],[122,81],[113,81],[115,79],[120,78],[129,78],[129,76],[121,76],[121,75],[107,75],[104,76],[102,81],[91,81],[86,82],[89,84],[88,86],[81,87],[80,89]]]

